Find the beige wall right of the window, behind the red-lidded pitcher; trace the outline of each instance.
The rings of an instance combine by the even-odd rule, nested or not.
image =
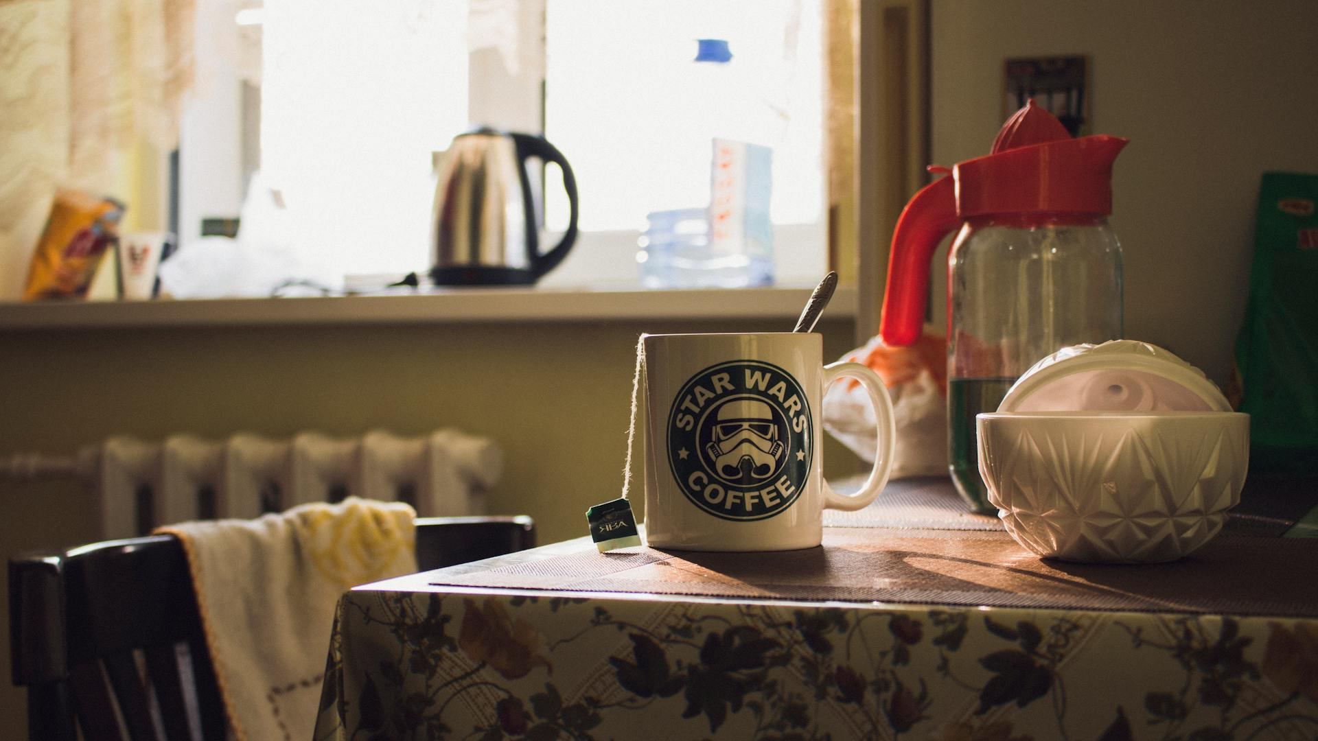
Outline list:
[[[1318,173],[1315,28],[1307,0],[933,0],[933,161],[988,153],[1004,58],[1087,55],[1094,133],[1131,138],[1111,219],[1126,258],[1126,336],[1222,381],[1244,311],[1259,177]]]

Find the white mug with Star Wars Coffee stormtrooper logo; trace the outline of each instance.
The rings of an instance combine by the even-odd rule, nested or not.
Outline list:
[[[805,332],[646,335],[646,542],[701,551],[820,545],[824,509],[854,510],[888,481],[895,426],[883,381],[824,367]],[[849,376],[874,403],[878,451],[854,496],[824,480],[824,389]]]

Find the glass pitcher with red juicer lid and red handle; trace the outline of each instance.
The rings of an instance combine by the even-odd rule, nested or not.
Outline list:
[[[1029,102],[991,154],[954,165],[898,219],[879,323],[888,345],[920,338],[929,262],[958,229],[948,253],[948,463],[977,510],[996,512],[979,476],[975,415],[995,411],[1040,359],[1122,336],[1122,249],[1106,216],[1127,141],[1070,138]]]

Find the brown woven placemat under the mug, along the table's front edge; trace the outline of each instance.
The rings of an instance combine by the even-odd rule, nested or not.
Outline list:
[[[580,550],[440,570],[432,584],[764,600],[1315,616],[1318,541],[1220,535],[1164,564],[1043,560],[1006,533],[826,527],[824,546],[757,554]],[[527,551],[534,552],[534,551]]]

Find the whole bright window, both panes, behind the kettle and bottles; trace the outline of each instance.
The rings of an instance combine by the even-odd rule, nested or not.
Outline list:
[[[283,203],[272,239],[306,277],[337,286],[345,274],[424,273],[432,153],[478,124],[543,129],[573,166],[581,236],[544,282],[634,285],[646,214],[708,204],[710,137],[724,128],[774,148],[779,282],[812,282],[824,268],[820,0],[750,13],[695,0],[266,0],[253,11],[228,24],[260,33],[260,181]],[[223,55],[219,37],[199,33],[199,58]],[[726,40],[731,62],[693,62],[697,38]],[[236,129],[241,108],[214,109]],[[232,215],[199,211],[223,208],[220,163],[187,166],[190,146],[224,138],[196,136],[215,121],[198,109],[185,119],[185,245],[198,236],[190,220]],[[550,232],[567,212],[552,170]]]

